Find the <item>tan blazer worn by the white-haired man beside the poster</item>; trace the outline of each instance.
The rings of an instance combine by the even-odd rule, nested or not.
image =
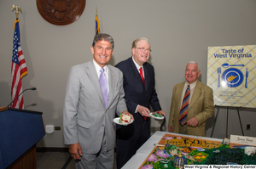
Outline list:
[[[170,109],[169,126],[172,126],[172,132],[179,132],[178,115],[182,100],[183,87],[185,82],[178,83],[173,87],[172,104]],[[187,127],[189,135],[205,136],[206,121],[214,113],[212,88],[197,81],[195,90],[189,103],[187,120],[195,116],[197,127]]]

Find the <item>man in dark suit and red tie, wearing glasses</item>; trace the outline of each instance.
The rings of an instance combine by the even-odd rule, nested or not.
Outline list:
[[[132,57],[115,65],[123,72],[125,103],[135,121],[126,127],[117,126],[117,168],[125,165],[150,137],[150,105],[161,110],[154,89],[154,67],[148,64],[150,45],[147,38],[132,42]],[[164,115],[166,113],[162,111]]]

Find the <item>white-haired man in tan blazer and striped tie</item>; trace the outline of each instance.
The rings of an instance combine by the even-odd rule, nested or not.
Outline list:
[[[173,87],[168,130],[195,136],[206,135],[206,121],[214,113],[212,88],[197,81],[199,65],[190,61],[185,82]]]

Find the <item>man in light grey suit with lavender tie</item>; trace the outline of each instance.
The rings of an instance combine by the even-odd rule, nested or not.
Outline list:
[[[131,114],[125,104],[123,74],[108,65],[113,54],[113,38],[108,34],[96,35],[90,50],[93,59],[73,66],[68,76],[64,142],[69,144],[77,168],[113,168],[113,118],[115,113]]]

